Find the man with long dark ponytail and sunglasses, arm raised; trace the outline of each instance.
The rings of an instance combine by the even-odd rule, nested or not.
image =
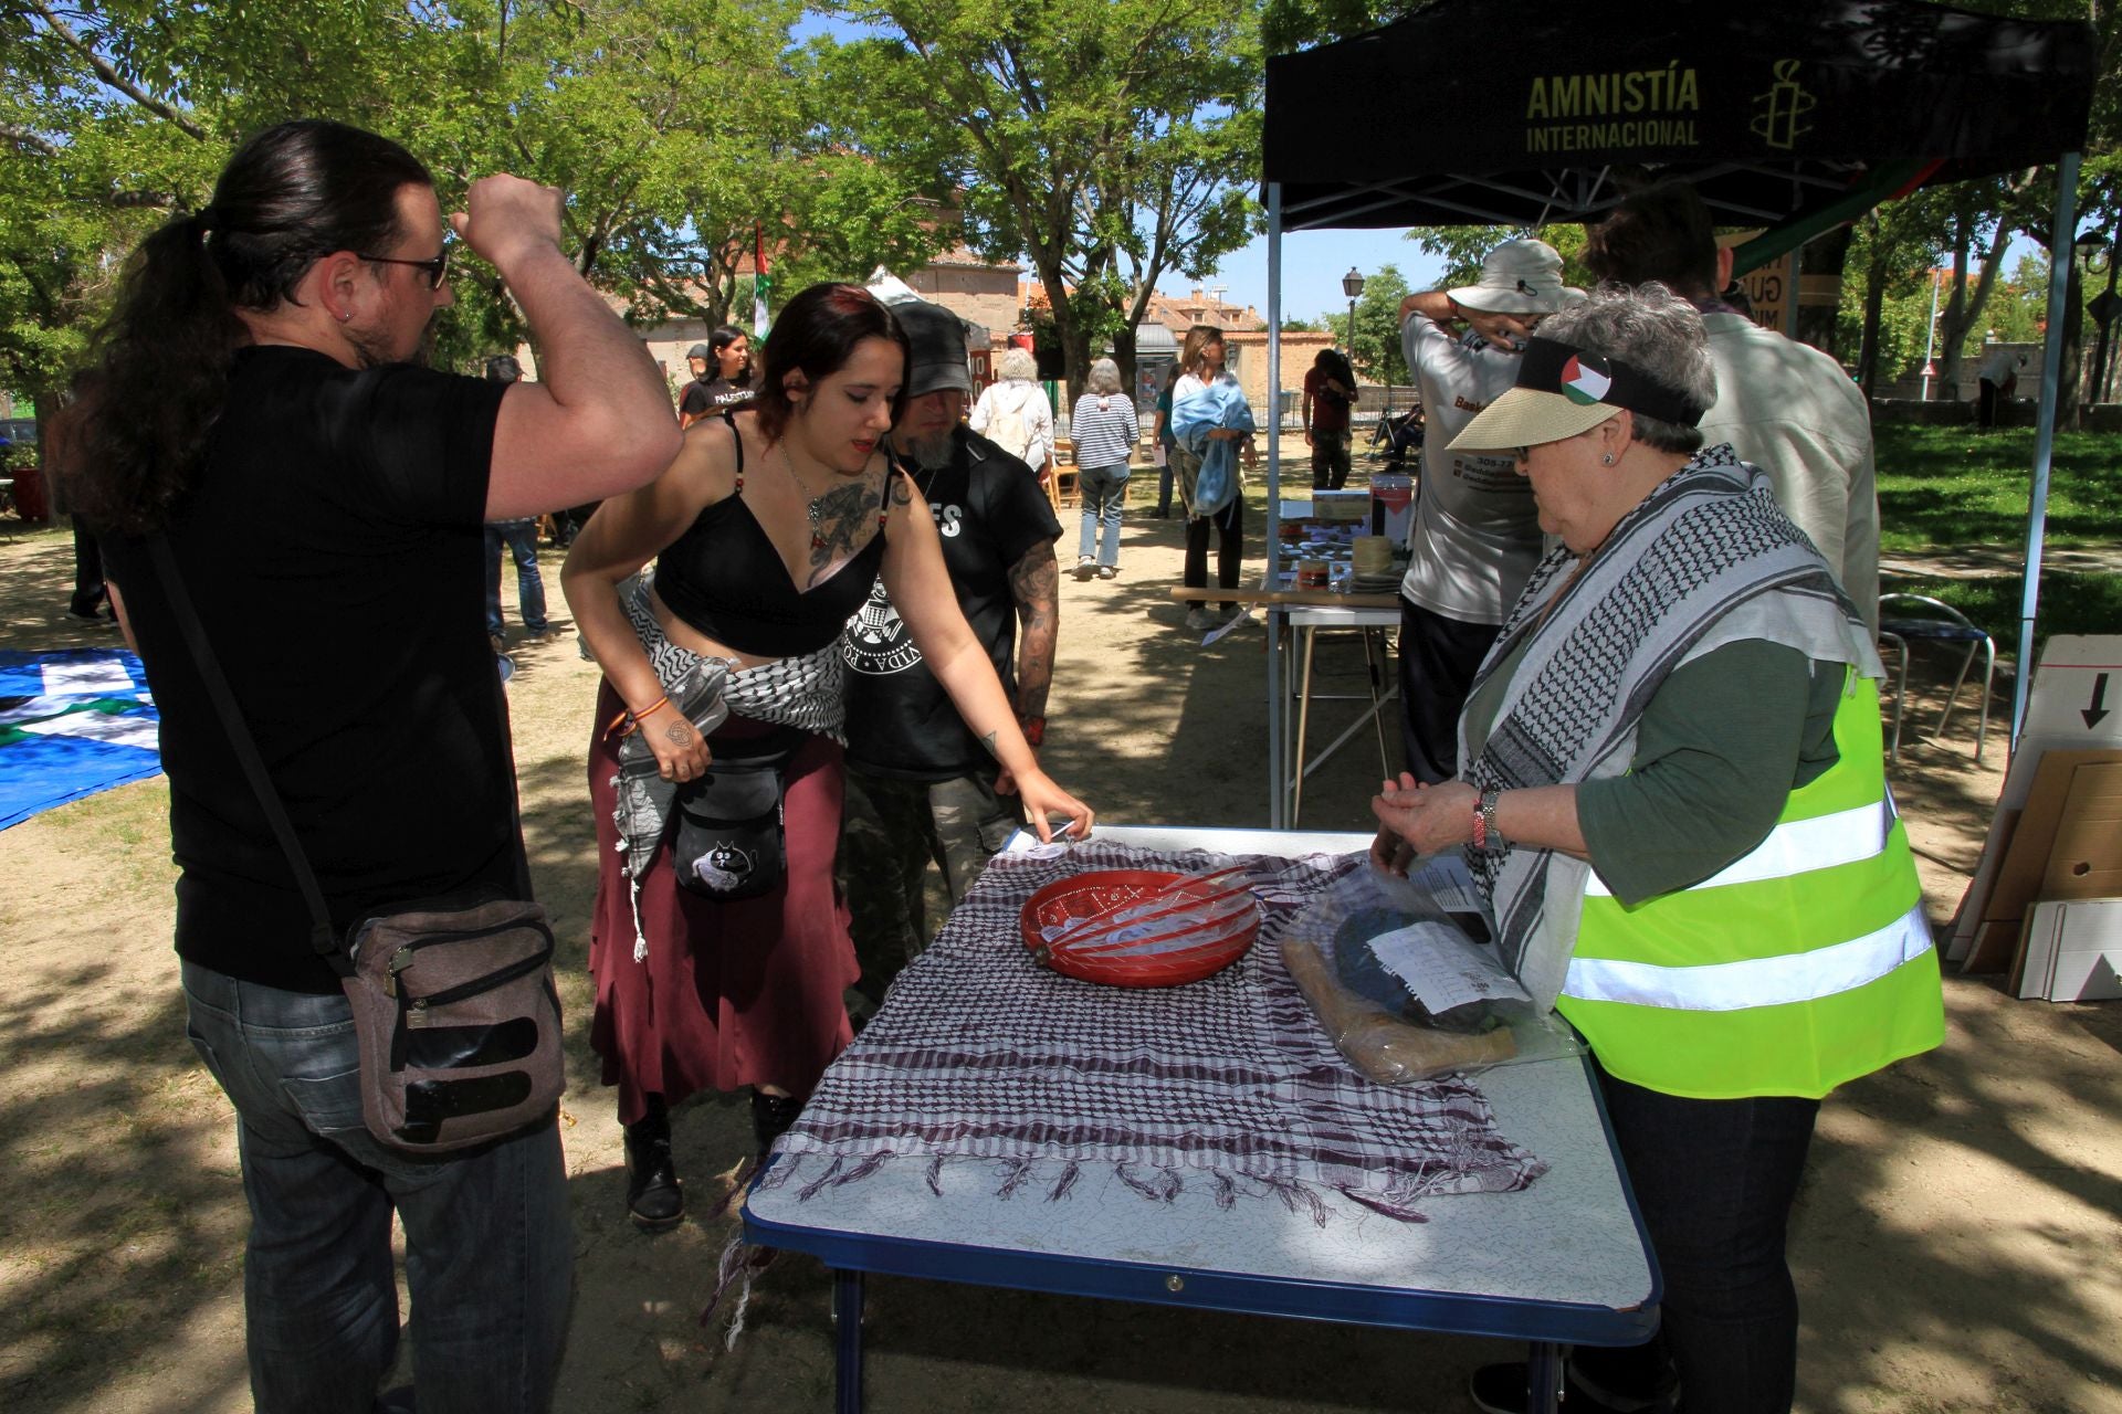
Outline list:
[[[560,250],[560,201],[488,176],[446,227],[399,144],[267,129],[136,252],[66,413],[62,475],[161,710],[187,1035],[238,1113],[267,1412],[412,1408],[378,1403],[393,1213],[422,1414],[543,1410],[567,1172],[552,1115],[448,1157],[367,1134],[348,1003],[151,553],[174,560],[342,937],[418,899],[518,895],[482,526],[632,490],[679,445],[647,352]],[[530,320],[541,382],[416,367],[452,301],[450,227]]]

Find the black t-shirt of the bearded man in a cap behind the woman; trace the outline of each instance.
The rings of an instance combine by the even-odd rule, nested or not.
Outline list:
[[[1021,460],[978,432],[957,428],[955,456],[915,471],[927,496],[942,560],[974,638],[995,674],[1016,691],[1016,598],[1010,570],[1038,545],[1061,538],[1046,492]],[[883,776],[949,780],[989,770],[993,757],[959,719],[951,695],[921,661],[883,581],[840,640],[847,655],[847,759]]]

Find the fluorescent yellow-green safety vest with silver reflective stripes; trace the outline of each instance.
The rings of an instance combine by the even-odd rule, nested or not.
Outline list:
[[[1878,685],[1855,670],[1833,738],[1836,763],[1715,878],[1630,907],[1587,876],[1555,1009],[1619,1079],[1698,1098],[1823,1096],[1944,1039]]]

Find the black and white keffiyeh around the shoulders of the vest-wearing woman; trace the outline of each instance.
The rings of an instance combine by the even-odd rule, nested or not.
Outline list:
[[[1863,619],[1776,505],[1768,475],[1715,445],[1623,515],[1587,560],[1555,549],[1538,564],[1475,674],[1479,693],[1530,640],[1479,759],[1460,774],[1483,791],[1619,776],[1666,676],[1746,638],[1855,664],[1874,678],[1884,672]],[[1464,731],[1462,721],[1462,761]],[[1589,865],[1524,846],[1468,848],[1466,865],[1504,965],[1551,1007],[1577,945]]]

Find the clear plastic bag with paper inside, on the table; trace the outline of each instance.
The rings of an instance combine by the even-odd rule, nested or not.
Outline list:
[[[1384,1085],[1585,1049],[1428,886],[1369,865],[1314,899],[1282,962],[1341,1056]]]

